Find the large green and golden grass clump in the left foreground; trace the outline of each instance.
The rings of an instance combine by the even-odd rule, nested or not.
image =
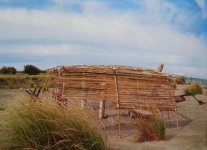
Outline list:
[[[4,149],[106,149],[90,109],[71,103],[60,107],[47,99],[33,104],[26,99],[10,107]]]

